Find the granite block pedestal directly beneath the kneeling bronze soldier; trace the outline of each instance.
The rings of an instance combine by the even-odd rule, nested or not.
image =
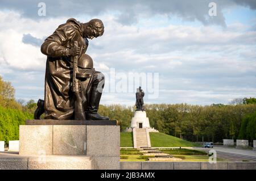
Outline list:
[[[19,128],[20,155],[80,155],[86,156],[81,164],[92,162],[92,169],[119,169],[116,121],[28,120],[26,124]]]

